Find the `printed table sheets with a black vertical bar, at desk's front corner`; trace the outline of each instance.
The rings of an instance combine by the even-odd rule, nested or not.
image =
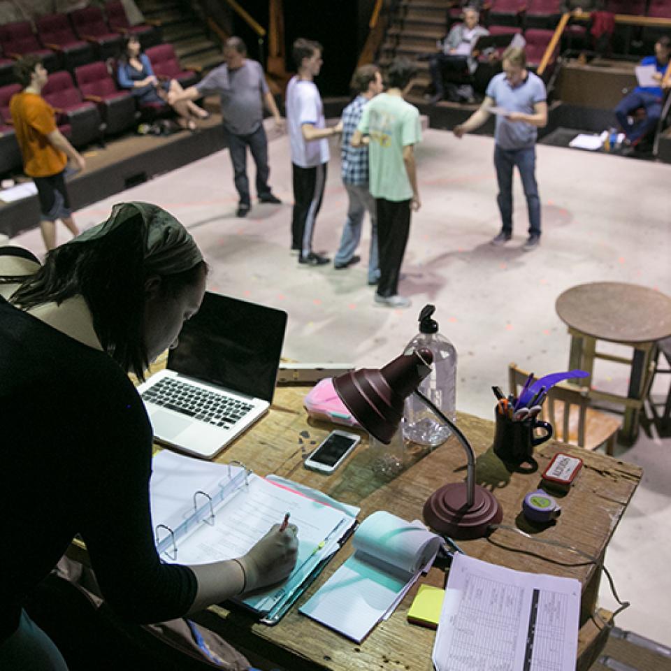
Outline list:
[[[575,671],[580,583],[456,554],[433,647],[437,671]]]

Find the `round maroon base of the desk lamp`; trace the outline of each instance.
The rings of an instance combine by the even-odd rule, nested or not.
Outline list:
[[[473,505],[466,506],[466,482],[446,484],[429,496],[424,504],[424,521],[438,533],[469,540],[487,533],[490,524],[499,524],[503,510],[496,496],[475,485]]]

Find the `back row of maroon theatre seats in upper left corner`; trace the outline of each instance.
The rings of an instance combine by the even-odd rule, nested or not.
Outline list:
[[[38,54],[49,72],[69,70],[96,59],[117,57],[124,35],[134,34],[143,48],[161,42],[159,30],[148,24],[131,26],[120,0],[101,8],[89,6],[68,14],[37,17],[35,25],[19,21],[0,26],[0,85],[13,81],[12,59]]]

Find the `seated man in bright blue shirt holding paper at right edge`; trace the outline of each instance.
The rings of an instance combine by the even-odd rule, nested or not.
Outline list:
[[[626,135],[626,144],[635,146],[649,131],[654,129],[662,113],[662,99],[664,91],[671,86],[671,80],[664,78],[669,68],[671,57],[671,39],[664,35],[655,44],[655,55],[646,56],[641,65],[654,65],[656,73],[653,75],[659,82],[658,86],[637,86],[630,94],[621,99],[615,108],[615,116]],[[630,114],[638,108],[645,108],[645,117],[642,120],[633,120]]]

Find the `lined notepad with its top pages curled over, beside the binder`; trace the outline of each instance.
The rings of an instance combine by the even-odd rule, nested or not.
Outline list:
[[[361,642],[435,556],[440,539],[419,523],[378,511],[363,521],[353,544],[354,555],[301,612]]]

